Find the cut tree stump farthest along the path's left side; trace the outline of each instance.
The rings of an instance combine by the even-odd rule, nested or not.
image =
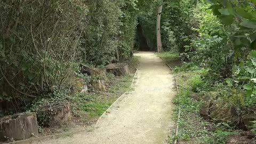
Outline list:
[[[106,66],[107,72],[115,76],[125,76],[129,74],[129,67],[126,63],[111,63]]]

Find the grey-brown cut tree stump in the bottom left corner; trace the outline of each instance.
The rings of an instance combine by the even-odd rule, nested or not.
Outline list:
[[[38,135],[35,113],[7,116],[0,120],[0,139],[25,140]]]

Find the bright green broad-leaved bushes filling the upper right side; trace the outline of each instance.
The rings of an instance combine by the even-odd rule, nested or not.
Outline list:
[[[255,51],[252,49],[254,27],[251,21],[255,14],[254,7],[238,1],[211,2],[212,4],[198,1],[190,9],[193,14],[190,14],[191,18],[188,20],[198,24],[191,27],[196,35],[183,39],[189,42],[183,54],[193,64],[175,71],[189,70],[193,65],[197,65],[199,69],[207,69],[206,75],[202,77],[207,85],[225,83],[229,87],[229,94],[236,95],[237,98],[230,97],[233,99],[230,105],[237,105],[237,101],[240,101],[240,104],[244,103],[244,107],[254,107],[256,67]],[[198,91],[196,87],[201,86],[197,80],[198,78],[194,78],[194,82],[191,82],[193,91]],[[203,89],[207,91],[207,86]],[[241,92],[241,89],[244,91]],[[241,98],[243,95],[247,96]]]

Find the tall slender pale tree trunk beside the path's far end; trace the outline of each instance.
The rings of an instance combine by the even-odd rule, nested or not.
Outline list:
[[[156,21],[156,38],[157,38],[157,52],[163,51],[162,39],[161,39],[161,15],[163,5],[158,7],[157,21]]]

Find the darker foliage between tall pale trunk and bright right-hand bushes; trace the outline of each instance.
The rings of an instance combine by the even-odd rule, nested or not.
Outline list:
[[[196,5],[194,0],[166,1],[162,14],[162,37],[165,50],[183,52],[188,42],[183,37],[193,36],[190,26],[191,9]]]

